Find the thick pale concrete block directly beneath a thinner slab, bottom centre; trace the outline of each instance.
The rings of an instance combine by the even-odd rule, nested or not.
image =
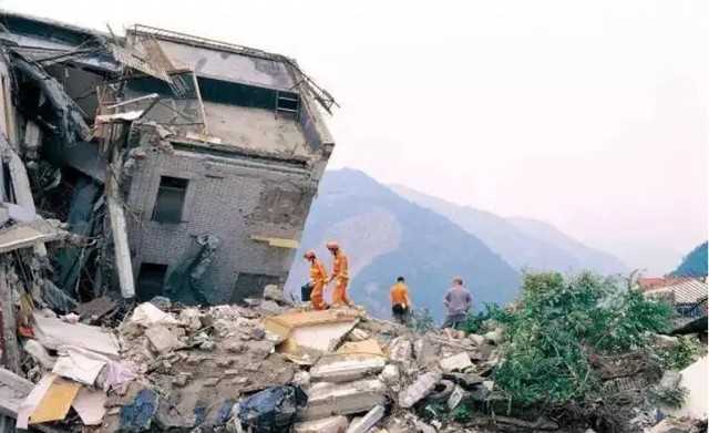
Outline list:
[[[316,383],[308,390],[305,420],[366,412],[384,404],[387,386],[378,379],[349,383]]]

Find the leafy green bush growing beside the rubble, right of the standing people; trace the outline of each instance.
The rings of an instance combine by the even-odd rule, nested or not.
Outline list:
[[[514,309],[492,316],[504,328],[495,384],[514,404],[562,405],[599,391],[593,357],[645,347],[671,308],[618,279],[551,272],[526,275]]]

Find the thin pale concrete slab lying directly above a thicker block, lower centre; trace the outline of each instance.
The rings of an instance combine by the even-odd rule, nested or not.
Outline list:
[[[327,382],[347,382],[379,373],[384,365],[386,361],[381,357],[354,354],[326,357],[310,369],[310,378]]]

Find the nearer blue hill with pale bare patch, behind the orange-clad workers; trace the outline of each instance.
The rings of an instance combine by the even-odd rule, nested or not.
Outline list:
[[[287,291],[299,292],[307,280],[306,249],[331,266],[328,239],[339,240],[350,258],[351,296],[380,317],[390,313],[389,288],[399,275],[407,277],[414,306],[439,319],[443,291],[456,275],[477,306],[512,300],[520,283],[518,272],[480,239],[352,169],[327,172],[320,183]]]

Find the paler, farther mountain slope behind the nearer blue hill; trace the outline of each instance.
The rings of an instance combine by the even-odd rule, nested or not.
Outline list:
[[[495,214],[461,206],[401,185],[392,189],[411,202],[434,210],[480,238],[516,269],[625,272],[614,256],[589,248],[553,226],[525,218],[503,218]]]

